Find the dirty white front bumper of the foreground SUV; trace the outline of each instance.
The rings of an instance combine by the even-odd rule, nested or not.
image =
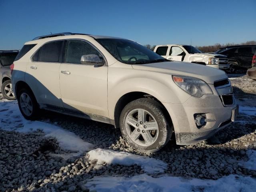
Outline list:
[[[236,107],[235,100],[232,105],[224,106],[217,91],[201,98],[191,96],[182,104],[163,104],[172,118],[178,145],[195,144],[210,138],[232,122],[232,109]],[[195,114],[205,114],[207,119],[215,121],[206,122],[203,127],[198,128]]]

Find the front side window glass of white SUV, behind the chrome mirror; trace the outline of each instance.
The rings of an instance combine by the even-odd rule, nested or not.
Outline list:
[[[81,56],[90,54],[100,56],[100,53],[89,43],[81,40],[70,40],[66,49],[66,63],[81,64]]]

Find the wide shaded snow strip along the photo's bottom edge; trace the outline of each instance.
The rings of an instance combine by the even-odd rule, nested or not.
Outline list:
[[[90,179],[85,186],[97,192],[253,192],[256,188],[256,180],[238,175],[229,175],[218,180],[201,180],[168,175],[153,178],[142,174],[131,178],[97,176]]]

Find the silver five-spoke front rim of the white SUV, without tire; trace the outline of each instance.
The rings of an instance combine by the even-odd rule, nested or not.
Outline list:
[[[139,146],[150,146],[158,138],[159,128],[156,119],[144,109],[134,109],[125,118],[128,137]]]

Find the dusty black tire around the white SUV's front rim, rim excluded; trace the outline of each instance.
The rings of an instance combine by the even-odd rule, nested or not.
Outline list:
[[[134,109],[143,109],[147,110],[154,116],[157,124],[158,124],[158,138],[156,141],[150,146],[140,146],[133,142],[128,136],[125,128],[125,120],[126,116]],[[122,136],[132,146],[134,149],[143,152],[143,153],[153,153],[160,150],[164,147],[167,142],[170,140],[173,132],[172,123],[168,121],[166,114],[164,114],[163,106],[157,102],[156,100],[150,98],[140,98],[128,103],[122,113],[120,115],[120,129],[122,132]]]

